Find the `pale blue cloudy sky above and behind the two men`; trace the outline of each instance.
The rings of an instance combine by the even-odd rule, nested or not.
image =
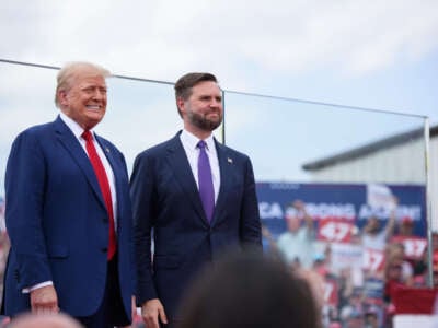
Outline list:
[[[50,66],[88,60],[116,74],[164,81],[210,71],[226,90],[423,115],[438,124],[435,0],[3,0],[0,37],[0,59]],[[20,130],[56,115],[54,77],[0,62],[0,169]],[[178,128],[171,87],[122,81],[110,86],[108,118],[100,129],[128,163]],[[230,98],[229,142],[257,159],[262,178],[302,179],[304,162],[423,122]],[[132,127],[123,136],[120,122]],[[268,140],[279,138],[287,138],[287,147],[272,148]],[[295,173],[269,161],[290,162]],[[281,173],[269,174],[274,171]]]

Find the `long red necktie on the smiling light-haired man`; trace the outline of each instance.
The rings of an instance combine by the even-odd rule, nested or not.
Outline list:
[[[111,197],[111,189],[108,184],[108,177],[106,176],[105,168],[103,167],[102,161],[97,155],[96,149],[93,144],[93,137],[89,130],[82,133],[82,138],[85,139],[85,148],[90,157],[91,165],[94,168],[94,173],[97,177],[99,186],[101,187],[102,196],[105,201],[106,210],[110,218],[110,245],[108,245],[108,260],[111,260],[116,253],[116,233],[114,226],[114,213],[113,213],[113,200]]]

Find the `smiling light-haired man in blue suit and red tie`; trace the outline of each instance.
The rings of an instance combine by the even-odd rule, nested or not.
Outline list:
[[[11,250],[3,311],[59,311],[85,327],[131,321],[132,219],[123,154],[93,128],[108,71],[73,62],[58,73],[55,121],[15,139],[5,174]]]

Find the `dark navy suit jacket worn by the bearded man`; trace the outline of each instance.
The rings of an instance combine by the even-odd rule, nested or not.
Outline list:
[[[261,224],[250,159],[216,142],[220,190],[211,222],[180,140],[140,153],[131,175],[137,301],[160,298],[171,319],[199,268],[224,249],[261,248]],[[151,231],[153,230],[153,259]]]

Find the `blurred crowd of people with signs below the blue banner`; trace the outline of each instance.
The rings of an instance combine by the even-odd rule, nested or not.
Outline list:
[[[370,216],[361,229],[351,226],[349,241],[339,244],[318,239],[318,220],[302,201],[290,206],[293,211],[286,211],[284,233],[274,238],[266,226],[262,231],[268,251],[316,285],[313,292],[322,304],[324,327],[392,327],[396,292],[429,286],[426,239],[414,235],[414,221],[397,218],[396,209],[387,220]],[[433,248],[438,251],[435,234]],[[345,253],[347,260],[342,258]],[[438,253],[434,263],[435,280]]]

